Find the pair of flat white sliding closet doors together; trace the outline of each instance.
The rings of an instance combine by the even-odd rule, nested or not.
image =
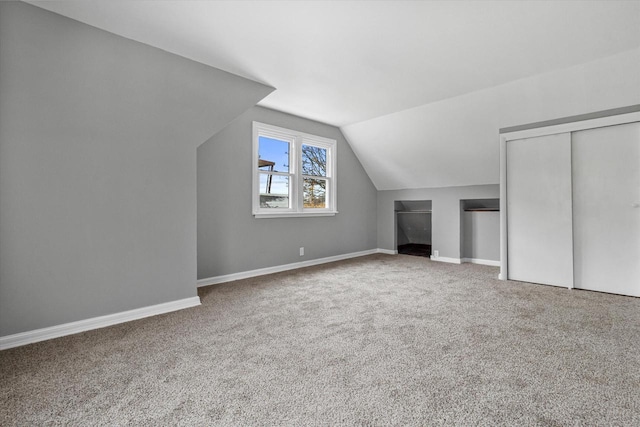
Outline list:
[[[640,122],[504,143],[503,278],[640,296]]]

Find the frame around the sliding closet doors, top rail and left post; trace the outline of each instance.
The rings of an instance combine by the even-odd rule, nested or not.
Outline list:
[[[509,277],[509,260],[507,237],[509,230],[507,229],[507,142],[516,139],[527,139],[538,136],[553,135],[558,133],[571,133],[580,130],[594,129],[605,126],[615,126],[626,123],[640,121],[640,105],[630,107],[632,112],[618,113],[616,110],[609,110],[614,115],[596,118],[574,118],[560,119],[562,123],[548,125],[549,122],[533,123],[523,126],[522,130],[509,130],[509,128],[500,131],[500,280],[507,280]],[[602,112],[604,114],[607,111]],[[582,117],[593,117],[597,113],[585,115]],[[565,120],[569,120],[564,122]],[[570,287],[572,288],[573,285]]]

